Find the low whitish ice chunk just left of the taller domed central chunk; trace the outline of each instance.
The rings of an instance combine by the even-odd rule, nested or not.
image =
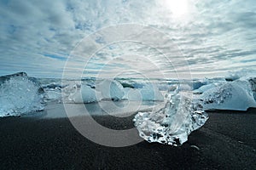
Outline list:
[[[87,85],[81,85],[80,88],[76,89],[76,92],[68,97],[75,103],[92,103],[101,100],[100,95],[96,95],[96,91]]]

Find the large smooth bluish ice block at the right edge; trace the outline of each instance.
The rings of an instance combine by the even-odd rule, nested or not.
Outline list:
[[[201,94],[199,102],[204,110],[247,111],[249,107],[256,107],[249,82],[240,80],[208,89]]]

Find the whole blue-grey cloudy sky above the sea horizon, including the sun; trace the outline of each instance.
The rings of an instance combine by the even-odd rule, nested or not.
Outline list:
[[[222,77],[256,66],[254,0],[0,0],[0,76]]]

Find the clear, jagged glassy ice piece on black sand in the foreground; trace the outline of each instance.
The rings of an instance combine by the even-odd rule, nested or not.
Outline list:
[[[139,135],[148,142],[181,145],[189,134],[203,126],[207,113],[187,93],[170,94],[159,111],[139,112],[133,119]]]

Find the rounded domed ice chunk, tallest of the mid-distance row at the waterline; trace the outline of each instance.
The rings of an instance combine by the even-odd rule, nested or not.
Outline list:
[[[115,80],[104,80],[96,85],[96,91],[102,93],[103,99],[120,100],[125,95],[122,84]]]

